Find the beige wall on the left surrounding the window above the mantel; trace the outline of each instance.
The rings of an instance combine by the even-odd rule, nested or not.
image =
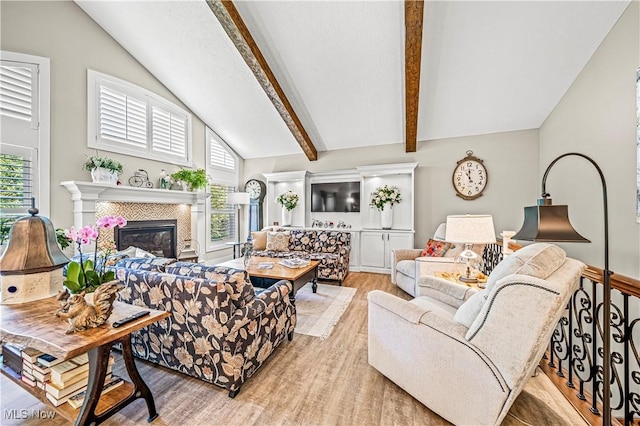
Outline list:
[[[87,155],[87,68],[137,84],[187,109],[71,1],[2,1],[1,49],[51,59],[51,220],[56,227],[73,224],[69,192],[59,183],[90,181],[82,169]],[[188,109],[187,109],[188,110]],[[193,156],[204,166],[204,124],[193,116]],[[126,182],[137,169],[156,180],[161,169],[177,166],[107,153],[123,163]]]

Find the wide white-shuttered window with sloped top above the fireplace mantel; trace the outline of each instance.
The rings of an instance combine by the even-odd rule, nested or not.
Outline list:
[[[191,114],[124,80],[87,72],[89,146],[191,165]]]

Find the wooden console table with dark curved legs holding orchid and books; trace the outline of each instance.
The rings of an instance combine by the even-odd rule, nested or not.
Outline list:
[[[59,306],[55,297],[19,305],[0,305],[0,318],[2,320],[0,324],[1,343],[29,346],[62,359],[73,358],[85,352],[88,353],[89,384],[87,396],[80,408],[80,412],[78,413],[69,404],[62,404],[59,407],[54,407],[54,409],[70,421],[75,419],[76,425],[99,424],[134,400],[143,398],[149,410],[147,421],[154,420],[158,413],[156,412],[153,395],[136,368],[130,334],[148,324],[166,318],[170,314],[115,302],[113,313],[105,325],[87,331],[65,334],[65,330],[68,327],[67,320],[57,318],[54,315]],[[113,321],[128,317],[141,310],[150,311],[150,315],[119,328],[111,327]],[[101,399],[100,393],[104,386],[109,354],[111,347],[115,343],[122,344],[122,357],[132,383],[125,383],[125,385],[119,386]],[[44,390],[25,385],[5,368],[2,369],[2,372],[18,382],[38,399],[51,406]]]

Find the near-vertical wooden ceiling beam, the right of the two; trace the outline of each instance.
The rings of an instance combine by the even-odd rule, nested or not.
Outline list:
[[[404,2],[405,150],[416,152],[420,105],[420,65],[422,61],[422,20],[424,1]]]

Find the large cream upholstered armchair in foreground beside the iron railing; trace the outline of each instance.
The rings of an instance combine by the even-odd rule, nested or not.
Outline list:
[[[542,358],[583,269],[559,247],[536,243],[500,262],[486,289],[467,301],[449,294],[465,286],[435,277],[432,288],[442,297],[434,291],[406,301],[372,291],[369,364],[454,424],[499,424]]]

